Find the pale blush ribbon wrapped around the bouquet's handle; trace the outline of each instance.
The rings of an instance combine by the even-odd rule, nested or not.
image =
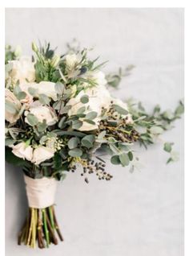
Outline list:
[[[54,204],[58,181],[54,178],[31,179],[24,175],[28,204],[32,208],[42,209]]]

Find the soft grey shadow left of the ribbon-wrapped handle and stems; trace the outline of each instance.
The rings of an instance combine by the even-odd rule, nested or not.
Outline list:
[[[6,236],[14,243],[25,221],[26,211],[27,199],[22,169],[6,163]]]

